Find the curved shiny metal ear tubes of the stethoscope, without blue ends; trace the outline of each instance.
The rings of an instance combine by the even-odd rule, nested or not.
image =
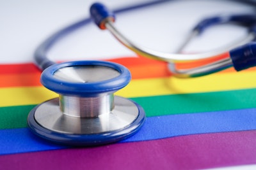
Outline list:
[[[215,73],[217,71],[226,69],[227,67],[231,67],[232,61],[230,59],[221,59],[217,62],[213,62],[212,64],[206,64],[204,66],[195,67],[193,69],[177,69],[175,67],[175,64],[179,62],[197,61],[201,59],[214,59],[216,56],[228,52],[230,49],[235,48],[239,45],[244,45],[245,43],[248,43],[255,38],[255,34],[253,32],[249,32],[245,38],[239,39],[239,41],[236,41],[236,43],[223,46],[210,52],[196,54],[163,53],[156,52],[154,50],[150,50],[143,46],[139,46],[132,43],[132,41],[127,39],[124,36],[124,34],[122,34],[120,31],[118,31],[118,29],[116,29],[115,25],[111,21],[106,22],[106,28],[113,34],[113,36],[115,36],[116,39],[118,39],[118,41],[120,41],[124,46],[126,46],[133,52],[138,53],[139,55],[144,57],[150,57],[152,59],[169,62],[170,71],[172,71],[173,76],[180,78],[189,78]]]

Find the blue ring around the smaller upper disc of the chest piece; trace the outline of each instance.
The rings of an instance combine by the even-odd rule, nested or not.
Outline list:
[[[53,75],[58,69],[63,67],[72,66],[105,66],[115,69],[120,73],[119,76],[111,78],[109,80],[89,82],[89,83],[79,83],[70,82],[65,80],[60,80],[55,78]],[[103,73],[104,74],[104,73]],[[52,90],[58,94],[69,95],[69,96],[80,96],[80,97],[92,97],[98,96],[104,92],[115,92],[116,90],[125,87],[131,80],[130,71],[114,62],[99,61],[99,60],[81,60],[81,61],[71,61],[63,62],[60,64],[54,64],[47,67],[42,73],[41,83],[47,89]]]

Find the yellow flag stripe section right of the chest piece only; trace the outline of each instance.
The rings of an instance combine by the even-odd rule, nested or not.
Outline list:
[[[133,80],[116,94],[125,97],[189,94],[256,87],[256,71],[211,74],[198,78],[152,78]]]

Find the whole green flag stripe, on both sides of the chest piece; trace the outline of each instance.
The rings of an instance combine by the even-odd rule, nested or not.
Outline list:
[[[256,107],[256,89],[136,97],[147,117],[180,113],[237,110]],[[0,108],[0,129],[26,127],[29,111],[35,105]]]

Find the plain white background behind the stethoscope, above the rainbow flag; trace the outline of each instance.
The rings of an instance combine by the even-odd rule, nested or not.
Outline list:
[[[110,9],[140,2],[104,1]],[[45,38],[61,28],[89,17],[93,0],[0,0],[0,63],[33,61],[33,52]],[[174,52],[202,18],[252,11],[230,1],[170,1],[150,8],[116,15],[116,26],[139,45]],[[208,29],[184,52],[202,52],[246,35],[246,29],[223,25]],[[136,56],[120,45],[108,31],[94,24],[61,39],[49,52],[52,60],[102,59]]]

